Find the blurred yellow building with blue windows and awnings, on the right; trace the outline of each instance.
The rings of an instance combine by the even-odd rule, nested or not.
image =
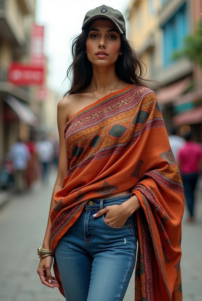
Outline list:
[[[172,57],[194,32],[199,1],[131,0],[126,13],[129,39],[148,68],[145,79],[158,82],[149,82],[149,86],[157,94],[167,131],[173,125],[190,126],[201,141],[201,70],[185,57]]]

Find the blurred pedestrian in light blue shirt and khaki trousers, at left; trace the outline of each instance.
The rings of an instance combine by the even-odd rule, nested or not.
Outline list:
[[[22,192],[26,188],[25,172],[31,154],[28,146],[20,138],[11,146],[10,154],[15,168],[14,179],[16,191]]]

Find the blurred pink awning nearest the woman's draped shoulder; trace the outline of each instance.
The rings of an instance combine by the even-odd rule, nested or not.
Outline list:
[[[156,92],[159,104],[167,104],[175,101],[176,97],[184,93],[190,84],[191,77],[187,77],[183,80],[175,82],[174,84],[159,89]]]

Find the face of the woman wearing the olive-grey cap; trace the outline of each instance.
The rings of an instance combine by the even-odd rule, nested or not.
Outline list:
[[[86,39],[86,53],[89,61],[97,66],[114,64],[121,55],[121,38],[116,25],[109,19],[96,19],[90,26]],[[105,51],[107,55],[97,55]]]

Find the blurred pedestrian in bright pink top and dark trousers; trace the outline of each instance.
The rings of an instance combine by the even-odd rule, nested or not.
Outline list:
[[[194,222],[194,192],[202,168],[202,146],[192,140],[191,133],[185,135],[185,140],[179,150],[178,162],[189,211],[188,222]]]

